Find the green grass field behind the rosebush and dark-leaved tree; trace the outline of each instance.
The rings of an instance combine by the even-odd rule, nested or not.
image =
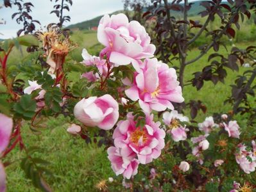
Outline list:
[[[95,47],[99,46],[96,40],[96,33],[83,34],[82,31],[78,31],[74,34],[73,40],[74,42],[79,42],[80,46],[91,47],[89,51],[97,50]],[[243,48],[246,47],[246,44],[237,44],[237,46]],[[228,49],[230,48],[231,46],[228,46]],[[82,47],[78,49],[78,52],[81,49]],[[213,51],[210,51],[209,54],[211,52]],[[226,50],[221,47],[220,52],[225,54]],[[194,58],[198,53],[199,51],[196,49],[192,50],[188,60]],[[15,51],[14,54],[16,56],[18,51]],[[185,69],[185,81],[189,81],[192,78],[193,72],[200,70],[205,65],[209,65],[207,58],[207,56],[204,56],[201,60],[189,65]],[[19,57],[12,58],[10,62],[15,62],[18,59]],[[225,84],[219,83],[214,86],[211,82],[207,82],[200,91],[196,91],[196,88],[192,86],[185,86],[183,90],[185,100],[202,100],[207,106],[207,115],[219,111],[227,112],[232,108],[228,105],[223,106],[223,101],[230,95],[231,87],[229,85],[234,82],[237,74],[242,74],[247,69],[241,67],[238,73],[228,70]],[[185,111],[185,113],[189,115],[189,111]],[[196,120],[201,121],[205,116],[200,112]],[[237,118],[240,122],[243,121],[239,116]],[[79,137],[68,134],[65,122],[64,116],[49,119],[47,130],[42,131],[40,135],[33,134],[26,123],[24,123],[22,128],[24,143],[28,147],[36,145],[42,148],[40,157],[51,162],[49,167],[55,177],[47,178],[47,182],[49,182],[54,191],[97,191],[95,185],[100,180],[107,180],[108,177],[115,178],[107,159],[107,152],[103,147],[98,148],[94,144],[87,145]],[[20,161],[18,160],[22,158],[23,153],[16,148],[8,155],[7,160],[13,162],[6,168],[8,191],[38,191],[33,188],[30,180],[25,179],[24,172],[19,166]]]

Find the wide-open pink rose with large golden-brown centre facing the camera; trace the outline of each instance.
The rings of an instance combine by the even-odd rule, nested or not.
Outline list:
[[[144,127],[136,127],[132,113],[117,124],[113,138],[115,147],[121,148],[124,157],[136,154],[139,163],[147,164],[157,159],[164,148],[166,132],[160,129],[160,122],[153,122],[153,115],[146,115]]]

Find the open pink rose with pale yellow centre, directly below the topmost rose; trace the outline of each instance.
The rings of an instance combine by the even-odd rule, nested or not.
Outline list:
[[[178,85],[176,70],[157,61],[156,58],[146,59],[142,72],[135,72],[133,86],[125,91],[132,100],[139,99],[141,108],[150,113],[174,109],[171,102],[183,102],[182,88]]]

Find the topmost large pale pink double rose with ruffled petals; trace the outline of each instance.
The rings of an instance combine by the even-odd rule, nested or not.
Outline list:
[[[106,47],[101,56],[107,54],[115,66],[132,63],[136,70],[140,70],[139,60],[153,57],[155,52],[155,45],[150,44],[145,28],[135,20],[129,22],[123,13],[101,18],[98,40]]]

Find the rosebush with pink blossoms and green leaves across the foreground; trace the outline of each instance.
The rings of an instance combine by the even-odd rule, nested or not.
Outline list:
[[[176,70],[154,58],[155,45],[139,22],[129,22],[123,13],[105,15],[98,28],[104,48],[99,56],[83,49],[83,61],[76,64],[69,53],[77,45],[57,26],[36,35],[44,62],[31,54],[33,65],[10,69],[6,61],[17,42],[1,45],[0,152],[5,157],[19,144],[26,151],[21,168],[37,188],[51,191],[47,168],[37,165],[47,161],[23,143],[22,125],[37,131],[48,116],[58,115],[69,119],[68,133],[87,143],[100,138],[98,145],[106,145],[113,172],[123,176],[109,179],[110,190],[123,190],[117,182],[133,191],[254,187],[255,136],[242,132],[231,115],[214,114],[197,124],[178,113],[175,104],[184,99]],[[34,36],[17,41],[39,45]],[[74,71],[78,81],[68,78]],[[17,74],[28,77],[29,86],[24,88]],[[5,177],[1,163],[0,191],[5,191]],[[107,190],[105,182],[98,188]]]

